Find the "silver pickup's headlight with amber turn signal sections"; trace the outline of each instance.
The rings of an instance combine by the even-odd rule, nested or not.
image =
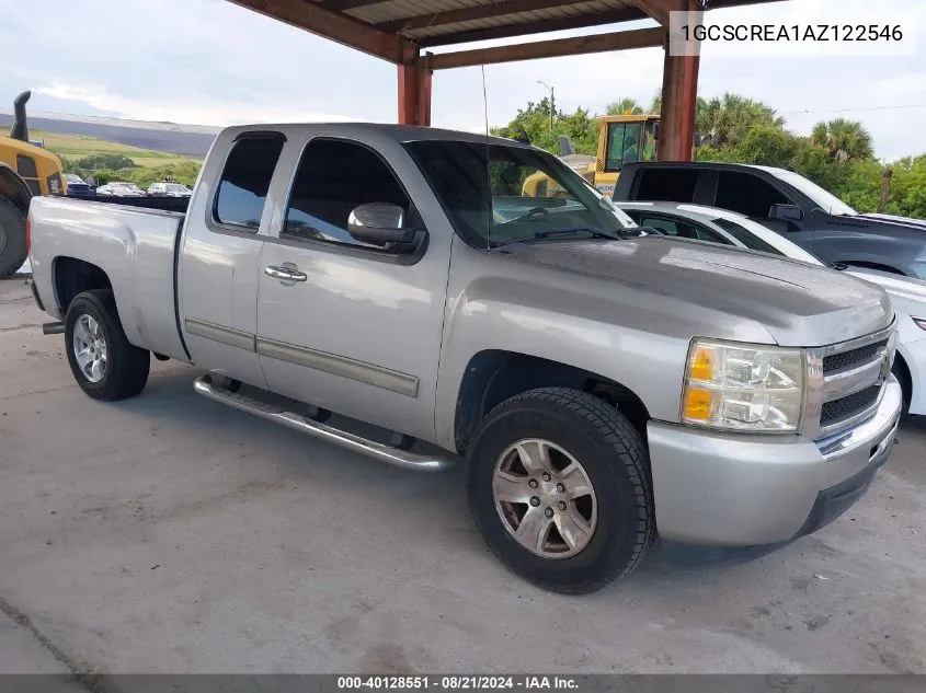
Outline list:
[[[800,349],[695,339],[685,369],[682,423],[794,432],[801,420],[803,382]]]

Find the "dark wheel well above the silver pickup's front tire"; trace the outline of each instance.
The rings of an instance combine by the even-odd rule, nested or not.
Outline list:
[[[537,388],[572,388],[601,397],[620,409],[647,439],[650,414],[640,399],[618,382],[573,366],[536,356],[490,349],[467,365],[457,396],[454,439],[464,453],[480,419],[498,404]]]

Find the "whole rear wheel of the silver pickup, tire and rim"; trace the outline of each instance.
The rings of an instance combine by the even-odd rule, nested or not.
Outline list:
[[[148,382],[151,355],[128,343],[110,289],[84,291],[71,301],[65,350],[77,384],[94,400],[125,400]]]

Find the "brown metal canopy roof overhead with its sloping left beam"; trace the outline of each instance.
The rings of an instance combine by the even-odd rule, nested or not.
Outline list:
[[[229,0],[396,63],[419,48],[618,24],[663,27],[679,0]],[[707,0],[707,9],[775,0]],[[637,44],[640,42],[638,41]],[[644,42],[653,44],[651,38]],[[599,46],[598,50],[631,45]],[[515,58],[518,59],[518,58]]]

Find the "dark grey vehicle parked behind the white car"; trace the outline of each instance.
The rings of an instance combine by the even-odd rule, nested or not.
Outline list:
[[[861,215],[815,183],[770,166],[628,163],[615,201],[663,200],[729,209],[759,221],[826,263],[926,279],[926,221]]]

